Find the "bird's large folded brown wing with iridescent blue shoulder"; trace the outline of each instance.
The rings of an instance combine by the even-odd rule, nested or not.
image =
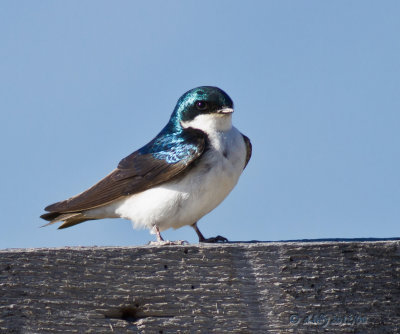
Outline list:
[[[205,141],[203,132],[192,129],[179,136],[157,136],[121,160],[117,169],[88,190],[47,206],[45,210],[50,213],[42,218],[50,220],[53,212],[70,213],[99,207],[171,180],[201,156]]]

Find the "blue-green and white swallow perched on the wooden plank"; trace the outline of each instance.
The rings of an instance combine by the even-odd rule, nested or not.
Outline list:
[[[187,91],[148,144],[89,189],[47,206],[44,226],[123,218],[156,234],[159,244],[168,242],[162,231],[186,225],[199,242],[227,242],[205,238],[197,222],[228,196],[251,158],[250,139],[232,125],[233,112],[232,99],[218,87]]]

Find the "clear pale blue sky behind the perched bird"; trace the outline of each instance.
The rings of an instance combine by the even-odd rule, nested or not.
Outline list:
[[[201,85],[231,96],[253,143],[207,237],[398,237],[399,17],[399,1],[1,1],[0,248],[155,240],[122,219],[39,216]],[[190,227],[164,237],[197,242]]]

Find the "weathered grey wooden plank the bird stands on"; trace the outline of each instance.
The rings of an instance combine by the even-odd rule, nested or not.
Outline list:
[[[400,241],[0,251],[1,333],[399,333]]]

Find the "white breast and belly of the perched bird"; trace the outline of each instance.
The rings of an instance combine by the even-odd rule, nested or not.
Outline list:
[[[211,149],[182,178],[91,210],[91,214],[107,211],[108,216],[130,219],[135,228],[156,225],[160,231],[195,223],[226,198],[245,165],[246,145],[236,128],[210,140]]]

